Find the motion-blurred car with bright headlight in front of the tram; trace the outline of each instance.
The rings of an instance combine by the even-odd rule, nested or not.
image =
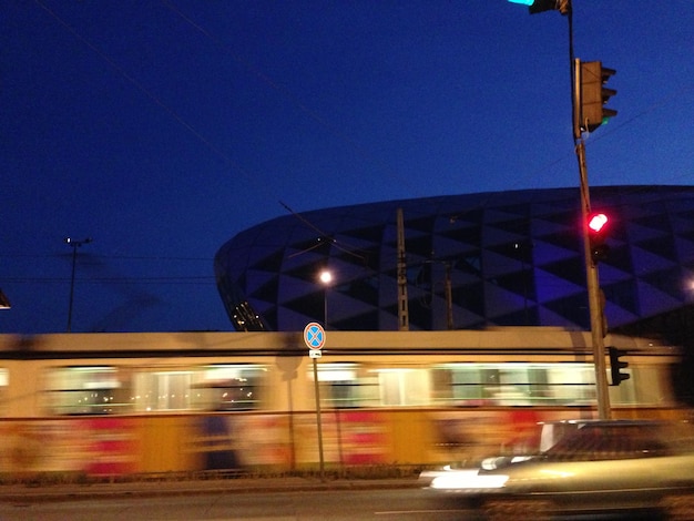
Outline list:
[[[471,500],[489,520],[660,512],[694,520],[694,431],[686,422],[575,420],[476,469],[423,472],[435,491]]]

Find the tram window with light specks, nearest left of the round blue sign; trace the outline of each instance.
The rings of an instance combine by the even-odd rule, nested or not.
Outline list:
[[[267,369],[258,365],[214,365],[193,376],[192,406],[205,410],[261,407]]]

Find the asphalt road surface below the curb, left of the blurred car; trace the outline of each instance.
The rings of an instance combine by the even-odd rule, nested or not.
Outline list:
[[[213,491],[161,496],[65,496],[0,501],[2,521],[323,521],[477,520],[473,512],[420,488]]]

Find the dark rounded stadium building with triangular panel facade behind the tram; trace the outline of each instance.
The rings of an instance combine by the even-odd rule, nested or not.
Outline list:
[[[593,187],[591,202],[610,218],[610,252],[599,265],[610,330],[685,330],[694,186]],[[581,229],[578,187],[341,206],[239,233],[217,252],[215,275],[237,330],[296,331],[309,321],[397,330],[405,303],[410,330],[586,330]],[[324,269],[329,284],[319,280]]]

